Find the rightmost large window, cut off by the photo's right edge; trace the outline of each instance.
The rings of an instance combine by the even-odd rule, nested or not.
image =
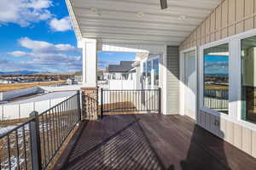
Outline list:
[[[256,36],[241,40],[241,119],[256,123]]]

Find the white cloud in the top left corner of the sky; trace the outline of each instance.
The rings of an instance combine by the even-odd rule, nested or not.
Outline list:
[[[15,23],[20,26],[30,26],[32,22],[52,18],[49,8],[51,0],[1,0],[0,25]]]

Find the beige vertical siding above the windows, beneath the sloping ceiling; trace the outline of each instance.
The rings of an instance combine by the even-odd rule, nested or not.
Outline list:
[[[255,28],[256,0],[225,0],[198,26],[180,49],[220,40]]]

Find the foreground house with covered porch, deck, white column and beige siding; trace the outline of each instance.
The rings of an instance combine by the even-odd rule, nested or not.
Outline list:
[[[27,161],[15,149],[23,129],[33,169],[51,165],[72,132],[50,169],[255,169],[256,0],[66,3],[83,49],[82,93],[0,136],[4,168]],[[137,89],[98,90],[98,51],[137,53],[125,69]]]

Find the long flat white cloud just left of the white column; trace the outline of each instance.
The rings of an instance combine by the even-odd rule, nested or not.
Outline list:
[[[24,48],[32,49],[33,52],[75,52],[78,48],[73,47],[70,44],[53,44],[44,41],[35,41],[28,37],[22,37],[19,40],[20,46]]]

